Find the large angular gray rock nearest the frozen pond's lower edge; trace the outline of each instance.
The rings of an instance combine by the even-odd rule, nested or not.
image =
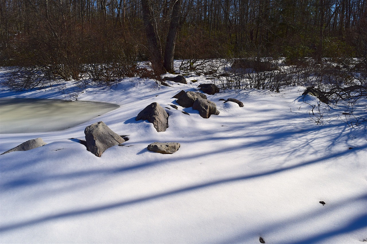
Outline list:
[[[87,150],[97,157],[101,157],[106,149],[125,141],[102,121],[87,126],[84,134],[86,134]]]

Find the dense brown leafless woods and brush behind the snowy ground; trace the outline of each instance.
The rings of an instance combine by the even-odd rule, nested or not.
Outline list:
[[[135,65],[152,61],[152,51],[156,73],[172,72],[163,65],[170,52],[189,64],[282,56],[299,67],[306,57],[359,57],[365,70],[366,26],[365,0],[2,0],[0,65],[20,67],[24,77],[88,75],[107,84],[149,75]]]

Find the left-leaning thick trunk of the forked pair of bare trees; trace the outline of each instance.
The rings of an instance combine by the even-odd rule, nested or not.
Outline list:
[[[158,35],[154,26],[156,26],[156,21],[152,13],[149,0],[141,0],[143,21],[145,26],[146,37],[148,40],[148,52],[149,59],[152,63],[152,68],[157,75],[166,73],[166,70],[162,64],[161,46],[158,42]]]

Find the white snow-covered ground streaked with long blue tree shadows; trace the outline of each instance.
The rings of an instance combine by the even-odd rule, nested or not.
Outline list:
[[[1,243],[366,241],[366,123],[349,127],[338,118],[344,110],[329,107],[324,124],[315,124],[309,104],[318,100],[301,96],[301,86],[207,95],[220,111],[209,119],[169,106],[178,105],[171,97],[181,89],[211,82],[205,78],[173,87],[140,78],[90,86],[78,100],[120,108],[63,131],[1,134],[0,153],[38,137],[48,143],[0,156]],[[65,94],[1,87],[0,97]],[[244,107],[220,98],[236,98]],[[152,102],[171,108],[165,132],[135,121]],[[130,140],[96,157],[69,139],[84,139],[84,128],[97,121]],[[153,153],[146,149],[152,142],[181,147]]]

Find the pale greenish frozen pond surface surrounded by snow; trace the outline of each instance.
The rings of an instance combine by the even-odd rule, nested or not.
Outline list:
[[[116,108],[104,102],[0,98],[0,134],[67,129]]]

